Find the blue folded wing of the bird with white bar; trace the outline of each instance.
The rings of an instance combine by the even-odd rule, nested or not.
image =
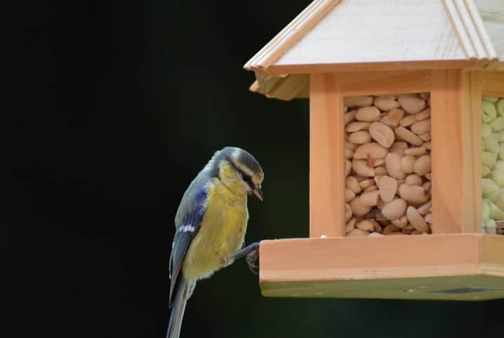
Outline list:
[[[190,203],[183,215],[180,224],[177,224],[175,237],[173,238],[173,247],[171,249],[170,257],[170,307],[172,306],[173,290],[178,281],[178,274],[184,262],[185,253],[189,248],[192,238],[196,236],[199,227],[201,226],[201,219],[206,211],[206,187],[199,188],[194,195],[190,198],[192,201],[184,201]],[[186,196],[184,196],[186,197]]]

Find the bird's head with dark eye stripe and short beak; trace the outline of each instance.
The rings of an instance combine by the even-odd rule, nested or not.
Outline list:
[[[213,176],[218,177],[234,194],[254,194],[263,201],[263,168],[244,149],[225,147],[215,152],[208,165]]]

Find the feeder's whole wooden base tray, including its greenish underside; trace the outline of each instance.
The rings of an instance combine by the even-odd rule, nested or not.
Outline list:
[[[469,284],[461,278],[452,278],[446,285],[442,282],[450,276],[504,277],[503,248],[504,236],[482,234],[263,241],[260,285],[264,295],[273,297],[421,299],[420,295],[404,294],[404,290],[420,286],[423,293],[439,288],[498,286],[498,296],[504,297],[502,278],[489,278],[491,283],[482,282],[484,278]],[[403,278],[409,278],[407,283]],[[428,293],[423,298],[450,299],[449,292],[444,296]]]

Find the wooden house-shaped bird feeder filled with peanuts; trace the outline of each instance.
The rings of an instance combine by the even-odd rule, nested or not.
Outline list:
[[[261,243],[263,295],[504,298],[501,0],[315,0],[244,67],[310,100],[310,238]]]

